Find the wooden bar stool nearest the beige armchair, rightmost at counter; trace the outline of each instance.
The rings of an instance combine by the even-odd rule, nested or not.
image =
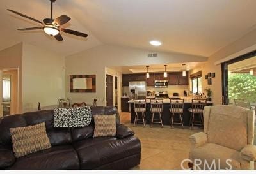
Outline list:
[[[188,111],[191,112],[190,121],[189,121],[189,125],[191,125],[191,129],[193,129],[194,125],[204,126],[203,111],[204,111],[205,105],[206,105],[206,99],[192,99],[192,108],[188,109]],[[195,121],[195,114],[199,116],[198,121]]]

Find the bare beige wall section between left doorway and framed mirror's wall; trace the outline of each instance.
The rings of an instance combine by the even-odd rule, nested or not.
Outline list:
[[[23,44],[23,112],[56,106],[65,98],[65,59],[49,50]]]

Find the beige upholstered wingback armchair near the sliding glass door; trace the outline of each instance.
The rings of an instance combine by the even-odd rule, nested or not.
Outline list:
[[[194,169],[253,169],[254,113],[231,105],[205,106],[204,132],[189,137]]]

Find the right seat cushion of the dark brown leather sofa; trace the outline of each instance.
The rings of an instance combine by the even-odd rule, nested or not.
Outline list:
[[[89,138],[74,143],[81,169],[95,169],[118,159],[140,154],[140,140],[134,136]]]

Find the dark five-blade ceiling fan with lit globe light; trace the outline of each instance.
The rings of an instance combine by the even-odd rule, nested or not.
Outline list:
[[[79,31],[74,31],[72,29],[62,28],[61,25],[66,24],[71,18],[68,17],[67,15],[61,15],[60,17],[53,19],[52,18],[52,3],[54,3],[56,0],[50,0],[50,1],[51,1],[51,18],[45,18],[43,20],[43,22],[41,22],[40,20],[36,20],[35,18],[31,18],[27,15],[23,15],[22,13],[19,13],[19,12],[14,11],[14,10],[10,10],[10,9],[7,9],[7,10],[11,11],[12,13],[15,13],[17,15],[20,15],[22,17],[33,20],[34,22],[38,22],[38,23],[42,24],[42,27],[23,28],[23,29],[18,29],[19,31],[43,29],[46,34],[48,34],[50,36],[54,36],[54,38],[56,38],[56,40],[58,40],[58,41],[63,40],[63,38],[60,34],[61,31],[65,32],[65,33],[73,34],[73,35],[76,35],[76,36],[81,36],[81,37],[84,37],[84,38],[86,38],[88,36],[87,34],[81,33]]]

